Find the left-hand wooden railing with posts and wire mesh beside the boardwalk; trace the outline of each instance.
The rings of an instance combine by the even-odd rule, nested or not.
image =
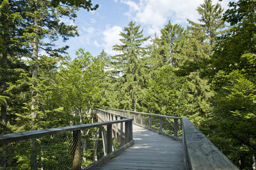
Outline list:
[[[15,167],[19,167],[22,168],[22,164],[19,165],[15,165],[13,166],[13,162],[15,162],[15,159],[12,159],[13,157],[15,158],[15,156],[17,155],[10,155],[12,153],[10,153],[10,150],[13,150],[13,147],[17,146],[19,147],[20,144],[16,144],[19,143],[20,141],[26,141],[27,140],[27,147],[28,148],[22,148],[23,152],[29,153],[27,156],[29,158],[27,158],[28,160],[31,159],[33,156],[35,155],[35,160],[38,161],[40,159],[40,161],[44,162],[44,159],[46,157],[47,154],[53,154],[53,153],[47,153],[45,154],[44,151],[38,151],[37,149],[33,149],[29,147],[29,141],[34,141],[36,143],[36,139],[41,139],[42,137],[49,137],[49,140],[52,138],[52,135],[56,135],[56,134],[65,134],[67,132],[70,132],[70,135],[64,135],[64,138],[68,138],[66,141],[63,141],[63,145],[64,143],[67,143],[67,141],[70,141],[70,150],[66,151],[65,153],[70,153],[71,155],[67,155],[67,158],[71,158],[72,161],[70,162],[70,165],[67,165],[65,167],[62,167],[64,169],[93,169],[95,166],[99,166],[100,164],[103,164],[104,162],[108,161],[109,158],[115,157],[116,155],[118,155],[119,153],[122,153],[122,151],[125,150],[125,148],[129,147],[131,144],[134,143],[133,139],[132,139],[132,119],[131,118],[125,118],[124,116],[117,116],[115,115],[116,120],[113,120],[113,115],[112,113],[109,113],[107,111],[103,111],[103,110],[98,110],[95,109],[94,112],[96,114],[103,115],[103,114],[108,114],[109,118],[111,118],[112,116],[112,121],[109,121],[110,119],[105,119],[105,121],[99,122],[99,123],[90,123],[90,124],[84,124],[84,125],[75,125],[75,126],[71,126],[71,127],[58,127],[58,128],[49,128],[49,129],[42,129],[42,130],[33,130],[33,131],[29,131],[29,132],[20,132],[20,133],[14,133],[14,134],[6,134],[6,135],[1,135],[0,136],[0,149],[1,151],[3,151],[3,153],[1,153],[0,155],[0,169],[15,169]],[[113,130],[114,127],[117,127],[116,125],[119,125],[119,127],[122,127],[123,124],[125,124],[125,128],[124,130],[120,129],[119,132],[124,134],[124,137],[121,137],[121,141],[122,144],[120,144],[120,147],[117,148],[116,150],[113,147],[113,137],[115,138],[115,136],[113,136]],[[106,132],[105,132],[105,128],[106,127]],[[86,135],[86,131],[85,130],[89,130],[92,128],[99,128],[102,132],[102,144],[103,144],[103,150],[104,150],[104,157],[99,158],[96,162],[93,162],[93,164],[90,164],[90,166],[87,167],[83,167],[82,166],[82,162],[84,160],[83,155],[81,153],[83,153],[83,150],[85,150],[86,148],[86,144],[85,144],[85,148],[84,148],[84,144],[83,144],[83,139],[81,139],[84,135]],[[28,141],[29,139],[29,141]],[[48,138],[47,138],[48,139]],[[46,140],[47,140],[46,139]],[[97,139],[95,139],[97,140]],[[117,139],[116,139],[117,141]],[[85,142],[85,141],[84,141]],[[15,143],[15,144],[13,144]],[[40,145],[40,143],[38,144]],[[61,145],[61,143],[59,144]],[[31,146],[31,145],[30,145]],[[32,147],[32,146],[31,146]],[[35,147],[35,146],[33,146]],[[51,147],[51,146],[48,146]],[[68,150],[68,148],[64,149]],[[17,148],[16,148],[17,150]],[[20,151],[22,152],[22,151]],[[52,152],[54,152],[54,150],[52,150]],[[17,151],[13,151],[13,154],[16,153]],[[43,154],[44,153],[44,154]],[[22,155],[24,158],[24,155]],[[22,157],[20,156],[20,157]],[[37,157],[37,158],[36,158]],[[40,158],[39,158],[40,157]],[[53,159],[57,159],[56,155],[52,155],[51,158]],[[60,157],[65,157],[65,155],[60,155]],[[3,163],[3,161],[5,163]],[[61,161],[61,160],[54,160],[54,161]],[[66,162],[65,162],[66,161]],[[48,167],[44,167],[44,164],[41,162],[41,165],[36,165],[36,162],[30,162],[27,161],[28,164],[30,165],[30,169],[37,169],[37,168],[41,168],[41,169],[47,169],[50,168],[49,165],[47,165]],[[68,160],[64,160],[63,163],[61,164],[68,164],[67,163]],[[60,163],[60,162],[59,162]],[[61,165],[60,165],[61,166]],[[28,168],[24,167],[24,168]],[[61,167],[54,167],[54,165],[51,165],[51,169],[60,169]]]

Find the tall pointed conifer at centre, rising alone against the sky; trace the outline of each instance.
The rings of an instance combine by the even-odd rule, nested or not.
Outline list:
[[[114,45],[113,49],[120,54],[113,56],[118,86],[120,88],[120,107],[136,111],[138,106],[138,93],[145,84],[143,78],[145,67],[145,50],[143,43],[149,37],[143,38],[143,30],[136,26],[136,22],[129,22],[120,33],[122,45]]]

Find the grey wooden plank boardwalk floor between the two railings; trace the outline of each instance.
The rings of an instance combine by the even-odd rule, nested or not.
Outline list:
[[[97,169],[184,169],[181,141],[132,126],[134,145]]]

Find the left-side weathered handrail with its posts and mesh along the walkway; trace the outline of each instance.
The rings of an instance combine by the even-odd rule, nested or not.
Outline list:
[[[26,139],[30,139],[30,144],[31,144],[29,145],[31,148],[29,148],[29,146],[26,145],[26,147],[28,147],[26,148],[26,150],[28,150],[28,154],[30,154],[30,158],[31,158],[30,166],[31,166],[31,169],[36,169],[38,157],[42,157],[41,154],[43,154],[40,152],[40,147],[41,147],[40,144],[38,144],[39,150],[36,151],[37,150],[36,138],[44,137],[45,135],[51,138],[51,135],[61,134],[65,132],[72,132],[72,134],[68,134],[68,135],[64,134],[64,136],[66,137],[68,136],[68,141],[71,141],[71,145],[72,145],[72,146],[68,146],[71,148],[63,148],[64,150],[68,150],[65,153],[68,154],[68,158],[72,159],[71,165],[70,164],[68,165],[72,166],[73,169],[81,169],[82,161],[85,162],[86,160],[81,153],[83,152],[85,153],[85,150],[87,148],[87,146],[84,145],[86,143],[86,140],[84,139],[84,137],[86,137],[86,132],[84,132],[84,130],[88,128],[95,128],[95,127],[98,127],[99,128],[98,131],[102,134],[102,137],[100,137],[100,140],[102,139],[104,155],[103,157],[98,158],[98,160],[96,159],[95,160],[96,162],[93,162],[93,164],[90,164],[89,166],[87,166],[86,169],[93,169],[95,168],[95,166],[99,166],[100,164],[108,161],[110,158],[115,157],[116,155],[122,153],[127,147],[131,146],[131,144],[134,143],[134,140],[132,139],[132,119],[126,118],[125,116],[113,114],[111,112],[103,111],[100,109],[94,109],[94,112],[99,112],[99,111],[105,112],[106,114],[109,114],[109,115],[112,114],[112,120],[110,119],[110,116],[109,116],[109,119],[106,119],[105,121],[102,121],[99,123],[89,123],[89,124],[82,124],[82,125],[74,125],[70,127],[49,128],[49,129],[42,129],[42,130],[33,130],[29,132],[18,132],[13,134],[0,135],[0,150],[4,151],[4,153],[1,153],[0,155],[0,169],[1,167],[6,167],[6,163],[4,162],[7,162],[8,158],[13,158],[13,156],[15,158],[15,156],[17,156],[17,155],[11,155],[12,153],[8,153],[9,147],[19,146],[19,143],[14,143],[14,142],[24,141]],[[116,120],[113,120],[113,115],[115,115]],[[113,136],[113,132],[115,130],[115,127],[118,127],[117,125],[119,124],[123,125],[123,123],[125,124],[124,131],[122,130],[122,134],[124,134],[124,137],[122,136],[123,143],[116,146],[119,148],[114,149],[113,138],[115,138],[115,136]],[[103,126],[106,126],[106,130]],[[46,139],[48,140],[48,138]],[[116,141],[118,140],[116,139]],[[63,144],[62,141],[61,141],[61,144]],[[94,152],[97,154],[97,149],[93,151],[93,154]],[[15,160],[12,160],[12,162],[13,161]],[[8,162],[10,162],[10,160],[8,160]],[[7,167],[12,168],[12,165],[10,164],[11,166],[9,166],[9,164],[10,163],[7,163]]]

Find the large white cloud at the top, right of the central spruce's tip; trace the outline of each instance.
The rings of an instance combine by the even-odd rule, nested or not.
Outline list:
[[[220,3],[225,10],[228,0],[214,0],[213,4]],[[173,23],[187,23],[186,19],[196,21],[200,15],[196,12],[197,6],[204,0],[122,0],[121,3],[129,6],[129,12],[125,13],[132,20],[147,26],[147,32],[152,35],[159,33],[168,20]]]

